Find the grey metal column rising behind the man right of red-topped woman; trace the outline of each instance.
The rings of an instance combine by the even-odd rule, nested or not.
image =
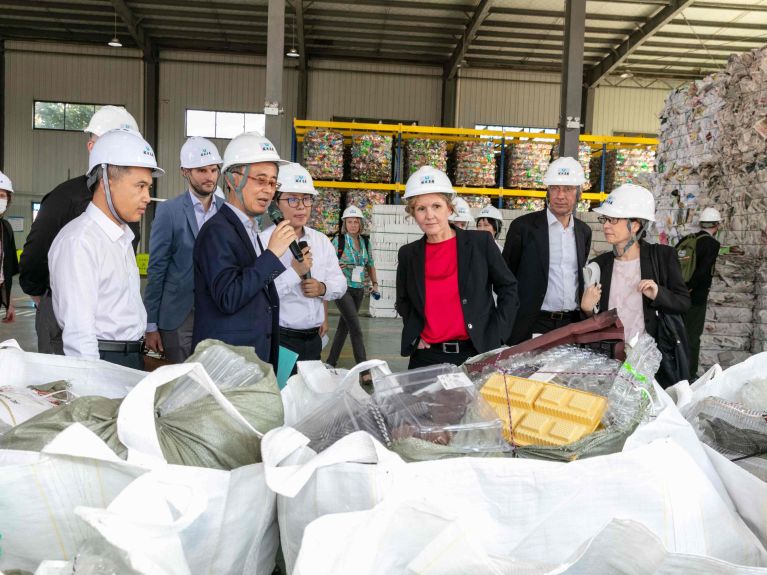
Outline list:
[[[565,57],[559,106],[559,155],[578,157],[583,97],[586,0],[565,0]]]

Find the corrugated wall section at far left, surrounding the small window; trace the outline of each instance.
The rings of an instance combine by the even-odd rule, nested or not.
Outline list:
[[[6,41],[5,171],[18,191],[8,215],[25,218],[23,243],[32,221],[31,201],[61,182],[85,173],[88,154],[82,132],[34,130],[35,100],[118,104],[141,125],[142,62],[135,50]],[[21,246],[19,246],[21,247]]]

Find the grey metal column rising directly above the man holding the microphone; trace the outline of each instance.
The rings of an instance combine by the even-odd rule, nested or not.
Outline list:
[[[282,68],[285,56],[285,0],[269,0],[266,45],[266,137],[282,151]]]

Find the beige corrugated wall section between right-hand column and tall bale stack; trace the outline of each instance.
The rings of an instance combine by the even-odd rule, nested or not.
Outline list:
[[[669,89],[623,88],[600,86],[594,96],[592,133],[612,135],[614,132],[657,134],[658,115]]]

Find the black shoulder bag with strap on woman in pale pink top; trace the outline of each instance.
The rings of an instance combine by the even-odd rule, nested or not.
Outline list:
[[[653,275],[660,286],[657,246],[648,247],[650,247]],[[655,337],[655,343],[661,353],[660,367],[655,374],[655,379],[663,389],[666,389],[678,381],[690,379],[690,348],[687,344],[687,330],[682,316],[659,309],[655,310],[655,313],[658,318],[658,334]]]

